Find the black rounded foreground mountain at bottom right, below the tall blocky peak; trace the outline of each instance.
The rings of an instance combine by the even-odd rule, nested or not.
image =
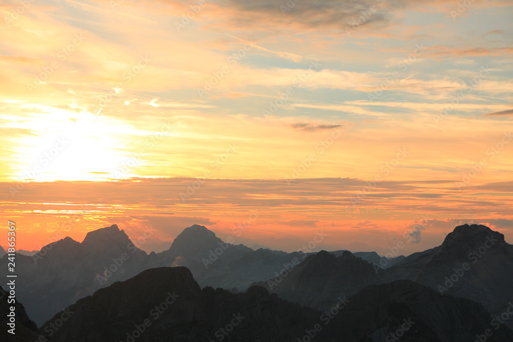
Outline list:
[[[492,319],[475,301],[397,280],[368,286],[350,297],[333,325],[341,342],[471,342],[478,336],[488,342],[513,340],[513,331],[490,326]]]

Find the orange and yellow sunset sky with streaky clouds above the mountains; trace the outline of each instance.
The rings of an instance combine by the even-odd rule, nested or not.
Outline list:
[[[513,241],[510,1],[0,11],[0,217],[18,249],[112,224],[157,252],[193,224],[285,251],[322,232],[313,250],[409,254],[465,223]]]

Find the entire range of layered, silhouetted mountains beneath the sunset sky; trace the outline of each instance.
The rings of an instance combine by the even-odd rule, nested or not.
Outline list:
[[[348,310],[340,310],[339,318],[336,318],[340,320],[339,323],[333,328],[323,327],[316,335],[317,339],[384,340],[393,333],[394,325],[399,324],[401,319],[408,319],[402,317],[408,313],[422,323],[411,327],[411,336],[419,337],[424,332],[431,336],[429,340],[463,340],[451,339],[456,338],[451,334],[458,332],[458,336],[467,336],[464,331],[470,328],[477,331],[476,334],[485,331],[493,317],[500,317],[513,301],[513,246],[505,242],[501,233],[485,226],[456,227],[441,246],[407,257],[387,259],[386,268],[378,266],[383,264],[380,263],[382,260],[383,257],[375,252],[254,251],[244,245],[225,243],[212,231],[199,225],[186,228],[168,250],[148,255],[135,247],[123,230],[112,225],[89,232],[82,243],[66,237],[45,246],[32,257],[16,254],[19,279],[16,299],[24,303],[28,317],[40,325],[40,332],[55,319],[56,313],[62,315],[66,308],[68,311],[83,312],[84,316],[73,314],[67,320],[69,323],[59,329],[60,332],[47,336],[66,340],[72,336],[69,335],[70,331],[86,329],[81,326],[84,324],[88,325],[86,330],[91,330],[91,334],[94,331],[100,334],[105,328],[100,321],[88,318],[91,314],[89,310],[100,315],[95,311],[94,303],[107,305],[110,303],[107,297],[112,297],[114,302],[106,308],[112,307],[107,311],[113,316],[105,319],[111,322],[108,330],[112,331],[112,336],[118,336],[116,334],[125,332],[130,324],[136,324],[142,318],[136,313],[148,309],[144,304],[145,296],[151,295],[150,302],[158,301],[159,296],[164,294],[162,291],[173,288],[184,293],[176,301],[176,304],[183,305],[173,306],[178,311],[169,311],[169,319],[148,328],[148,332],[152,333],[145,334],[145,338],[148,338],[145,340],[160,340],[159,336],[169,332],[184,336],[184,339],[176,340],[195,340],[200,338],[198,336],[201,336],[201,340],[216,340],[215,336],[208,336],[212,332],[215,334],[216,331],[212,329],[219,327],[223,319],[229,320],[228,311],[232,308],[231,311],[236,311],[235,308],[241,311],[249,305],[247,303],[253,303],[261,310],[263,305],[270,310],[259,312],[257,316],[251,312],[251,319],[247,320],[251,323],[241,323],[241,334],[251,331],[249,336],[253,339],[247,340],[254,341],[273,340],[259,330],[260,326],[267,325],[273,336],[283,337],[279,340],[285,341],[288,340],[287,336],[298,334],[297,338],[302,338],[305,331],[298,332],[294,324],[283,323],[290,318],[288,315],[274,314],[293,311],[299,315],[293,316],[294,321],[301,323],[298,323],[299,326],[314,326],[323,311],[332,309],[336,303],[340,305],[343,301],[340,298],[352,298],[348,299]],[[1,269],[6,270],[7,257],[3,257],[0,264]],[[173,277],[180,277],[185,285],[173,283]],[[141,288],[130,290],[137,286]],[[373,293],[381,295],[373,296]],[[211,300],[208,303],[205,301],[207,297]],[[371,298],[372,309],[369,309],[370,304],[366,300]],[[421,299],[425,303],[421,304]],[[120,303],[126,307],[116,308]],[[209,306],[212,303],[220,307],[227,305],[230,310],[215,315]],[[361,303],[362,307],[360,304],[353,307],[354,303]],[[441,303],[449,305],[449,308]],[[194,310],[186,310],[185,307],[189,306]],[[123,314],[116,316],[116,312]],[[347,312],[352,313],[346,316]],[[126,317],[123,316],[125,314]],[[372,320],[363,319],[365,324],[352,318],[367,314],[377,316]],[[467,317],[467,325],[465,321],[456,319],[455,315]],[[437,317],[449,320],[438,321]],[[186,322],[179,318],[186,319]],[[511,318],[513,315],[507,319],[503,317],[503,323],[492,335],[496,339],[488,340],[513,340],[501,339],[509,336]],[[275,321],[277,319],[282,322],[281,329]],[[92,324],[93,321],[96,323]],[[354,322],[349,324],[351,321]],[[440,328],[447,321],[451,322],[450,325]],[[68,331],[65,327],[70,324]],[[345,330],[340,331],[340,327],[345,327]],[[349,333],[353,327],[358,329]],[[28,329],[34,331],[33,326]],[[188,329],[198,331],[200,335],[189,336]],[[281,332],[283,334],[280,335]],[[100,335],[91,336],[87,337],[90,339],[81,339],[86,337],[73,335],[73,339],[68,340],[101,340],[94,339],[100,338]],[[243,340],[236,339],[238,335],[235,334],[230,336],[225,340]],[[111,340],[110,337],[102,338]],[[126,339],[125,333],[123,340]]]

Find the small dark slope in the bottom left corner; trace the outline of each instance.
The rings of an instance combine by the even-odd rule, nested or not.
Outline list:
[[[37,340],[40,337],[37,326],[30,320],[23,304],[19,303],[17,300],[15,303],[11,303],[9,299],[12,299],[9,298],[9,292],[0,287],[0,325],[2,326],[2,330],[0,330],[0,340],[5,342],[29,342]],[[12,306],[14,306],[15,315],[15,335],[8,332],[8,330],[12,328],[7,325],[9,323],[9,317],[7,315],[10,315],[10,308]]]

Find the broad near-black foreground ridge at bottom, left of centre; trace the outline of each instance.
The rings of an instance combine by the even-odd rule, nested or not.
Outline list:
[[[66,309],[55,341],[294,341],[318,313],[265,289],[200,289],[185,267],[162,267],[96,291]],[[50,321],[60,317],[56,314]],[[142,331],[142,333],[141,333]],[[334,341],[334,339],[325,339]]]

